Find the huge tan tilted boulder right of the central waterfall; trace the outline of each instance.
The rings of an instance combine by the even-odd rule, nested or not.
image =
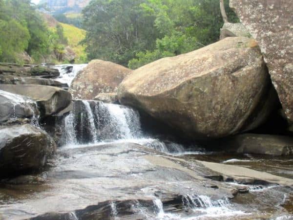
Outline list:
[[[276,100],[260,50],[245,37],[142,66],[120,84],[118,97],[191,138],[254,129]]]

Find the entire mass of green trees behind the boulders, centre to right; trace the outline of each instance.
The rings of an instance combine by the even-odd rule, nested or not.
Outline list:
[[[223,25],[219,0],[92,0],[83,16],[88,58],[130,68],[214,43]]]

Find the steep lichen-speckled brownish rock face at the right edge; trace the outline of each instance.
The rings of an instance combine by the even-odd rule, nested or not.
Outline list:
[[[257,41],[283,110],[293,123],[293,3],[230,0],[230,7]]]

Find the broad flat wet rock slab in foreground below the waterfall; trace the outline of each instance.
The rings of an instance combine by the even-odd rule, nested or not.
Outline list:
[[[128,142],[71,145],[58,153],[55,166],[46,171],[44,183],[2,184],[2,218],[179,220],[290,216],[288,205],[287,209],[275,205],[282,203],[284,195],[292,191],[290,187],[261,187],[257,182],[244,187],[207,178],[218,172],[207,169],[198,159],[223,161],[219,154],[174,156]]]

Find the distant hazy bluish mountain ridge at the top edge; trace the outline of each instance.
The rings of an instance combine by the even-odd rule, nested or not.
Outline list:
[[[66,11],[80,11],[84,8],[90,0],[41,0],[40,4],[46,6],[53,12],[66,12]]]

